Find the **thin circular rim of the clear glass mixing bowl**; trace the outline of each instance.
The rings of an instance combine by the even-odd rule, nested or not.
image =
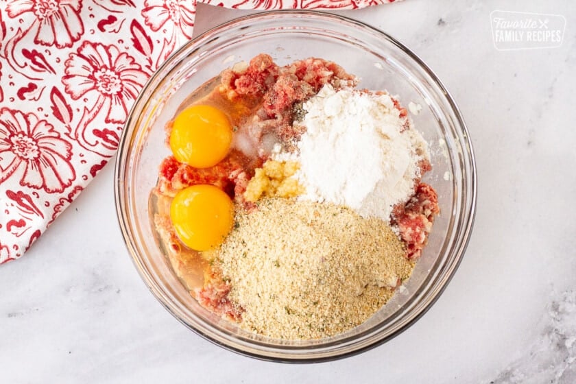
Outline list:
[[[318,17],[320,19],[322,19],[323,21],[326,21],[328,23],[344,23],[347,24],[348,27],[359,27],[360,29],[363,29],[365,31],[363,32],[368,32],[368,33],[372,33],[375,35],[379,35],[381,36],[383,39],[388,40],[389,43],[392,43],[393,45],[396,45],[396,47],[398,47],[401,51],[403,51],[403,53],[407,54],[407,56],[409,57],[410,60],[413,60],[413,63],[416,64],[416,66],[421,69],[422,71],[424,71],[429,77],[430,79],[433,81],[433,84],[435,86],[437,86],[438,88],[440,88],[440,90],[442,91],[442,98],[444,99],[444,101],[447,102],[451,112],[453,112],[454,117],[456,118],[455,121],[455,125],[456,128],[458,130],[457,134],[458,137],[457,139],[459,139],[461,141],[461,144],[464,144],[463,147],[466,149],[467,151],[467,159],[468,163],[466,163],[464,165],[464,167],[466,168],[466,174],[469,176],[468,180],[463,180],[463,182],[466,182],[466,184],[468,184],[468,188],[469,190],[467,190],[466,193],[466,201],[464,201],[462,203],[462,208],[466,208],[465,212],[466,215],[464,217],[464,228],[461,228],[460,231],[464,232],[463,237],[461,237],[461,239],[459,241],[457,241],[457,250],[455,252],[455,256],[453,258],[453,261],[451,263],[447,263],[449,266],[449,271],[448,274],[446,275],[446,278],[444,278],[444,280],[442,281],[440,288],[437,289],[437,291],[435,292],[435,294],[433,294],[433,296],[431,298],[429,298],[429,300],[427,300],[424,303],[424,307],[422,309],[419,309],[416,314],[414,314],[411,318],[409,318],[409,320],[407,322],[405,322],[403,324],[403,326],[401,326],[399,329],[397,329],[396,331],[392,332],[391,334],[382,337],[380,339],[376,339],[374,341],[372,341],[370,344],[367,344],[365,346],[362,346],[361,348],[355,348],[353,350],[350,350],[348,352],[342,352],[339,353],[337,355],[324,355],[324,356],[320,356],[320,357],[293,357],[293,356],[286,356],[286,357],[278,357],[278,356],[274,356],[274,355],[266,355],[266,353],[262,350],[259,350],[259,352],[250,352],[248,350],[244,350],[243,348],[241,348],[241,345],[236,344],[236,346],[232,346],[229,344],[226,344],[226,342],[223,341],[219,341],[219,339],[217,339],[217,337],[214,337],[213,335],[208,335],[206,332],[197,329],[193,326],[191,326],[190,324],[188,324],[187,322],[184,321],[184,319],[182,319],[180,317],[180,315],[178,315],[178,313],[176,313],[176,311],[174,311],[174,309],[169,305],[168,300],[163,296],[163,290],[160,289],[160,287],[158,286],[158,283],[156,283],[156,281],[154,280],[154,278],[152,278],[152,276],[149,275],[148,272],[146,272],[145,270],[145,266],[143,265],[143,261],[141,260],[141,256],[139,254],[139,251],[136,249],[136,244],[134,243],[134,237],[133,235],[133,231],[130,230],[131,224],[130,224],[130,215],[127,215],[127,213],[125,212],[125,206],[130,202],[130,199],[125,197],[125,185],[124,185],[124,179],[125,179],[125,175],[126,172],[124,171],[125,168],[130,164],[130,159],[128,156],[125,156],[125,153],[128,151],[130,152],[130,145],[126,145],[127,143],[132,143],[132,139],[134,138],[134,136],[139,132],[139,130],[137,128],[134,128],[134,130],[130,130],[130,125],[132,123],[132,121],[134,119],[138,119],[138,116],[134,115],[134,112],[136,112],[139,108],[139,106],[141,106],[141,104],[144,102],[145,105],[145,101],[143,101],[144,95],[146,93],[146,91],[149,90],[149,88],[152,86],[152,84],[154,84],[155,80],[157,80],[159,77],[162,77],[163,75],[165,75],[165,70],[170,68],[170,65],[173,64],[172,61],[178,57],[181,53],[183,53],[184,51],[189,51],[192,50],[193,47],[198,46],[201,47],[202,44],[210,43],[210,38],[213,37],[213,35],[218,34],[221,31],[226,31],[226,29],[228,29],[229,27],[234,27],[236,25],[239,25],[241,23],[246,23],[247,21],[261,21],[263,19],[267,19],[267,18],[280,18],[280,19],[285,19],[285,18],[289,18],[291,16],[309,16],[309,17]],[[144,107],[143,107],[144,108]],[[141,108],[141,110],[139,112],[142,112],[143,108]],[[422,315],[424,315],[424,313],[426,313],[432,306],[433,304],[438,300],[438,298],[440,298],[442,292],[444,291],[444,289],[446,288],[446,286],[448,285],[449,281],[451,280],[451,278],[453,277],[453,275],[455,274],[462,256],[464,255],[464,252],[466,251],[466,248],[468,246],[468,242],[470,240],[470,235],[472,232],[472,227],[473,227],[473,223],[475,220],[475,213],[476,213],[476,200],[477,200],[477,170],[476,170],[476,163],[475,163],[475,156],[474,156],[474,151],[472,149],[472,142],[470,140],[470,135],[468,134],[468,128],[466,128],[466,123],[464,122],[464,118],[461,115],[461,112],[459,110],[459,108],[457,107],[457,104],[455,103],[453,97],[451,96],[451,94],[446,90],[446,87],[444,86],[444,84],[442,84],[442,82],[440,81],[440,79],[435,75],[435,73],[433,73],[433,71],[427,66],[427,64],[424,63],[424,61],[422,59],[420,59],[416,53],[413,53],[413,51],[411,51],[411,49],[409,49],[408,47],[406,47],[405,45],[403,45],[402,43],[400,43],[398,40],[396,40],[394,37],[390,36],[389,34],[387,34],[386,32],[381,31],[380,29],[377,29],[376,27],[372,27],[371,25],[368,25],[366,23],[363,23],[361,21],[357,21],[355,19],[352,19],[350,17],[347,16],[341,16],[341,15],[337,15],[337,14],[333,14],[330,12],[324,12],[324,11],[319,11],[319,10],[269,10],[269,11],[263,11],[263,12],[256,12],[256,13],[252,13],[252,14],[248,14],[246,16],[240,16],[237,17],[235,19],[232,19],[230,21],[227,21],[225,23],[221,23],[211,29],[208,29],[206,32],[200,34],[199,36],[189,40],[187,43],[185,43],[184,45],[182,45],[181,47],[179,47],[178,49],[176,49],[176,51],[174,51],[173,53],[171,53],[171,55],[165,60],[165,62],[163,62],[162,65],[160,65],[160,67],[158,67],[158,69],[156,69],[156,71],[154,71],[154,73],[152,74],[151,77],[149,77],[149,79],[147,80],[147,82],[145,83],[145,85],[143,86],[142,90],[140,91],[138,97],[136,98],[136,100],[134,101],[134,104],[132,105],[132,108],[130,109],[130,112],[128,114],[128,118],[125,121],[125,124],[123,126],[123,131],[121,134],[121,139],[119,141],[119,151],[117,154],[117,158],[116,158],[116,162],[115,162],[115,206],[116,206],[116,211],[117,211],[117,219],[119,222],[119,226],[121,228],[121,232],[122,232],[122,236],[123,236],[123,240],[125,241],[126,247],[128,248],[128,251],[130,253],[132,262],[134,263],[134,266],[136,267],[136,269],[138,270],[141,278],[143,279],[145,285],[147,285],[149,291],[152,292],[154,298],[156,298],[156,300],[158,300],[158,302],[160,302],[160,304],[163,305],[163,307],[165,307],[165,309],[167,309],[167,311],[169,311],[169,313],[171,313],[171,315],[173,315],[174,317],[176,317],[176,319],[178,321],[180,321],[182,324],[184,324],[184,326],[186,326],[187,328],[191,329],[191,331],[195,332],[197,335],[200,335],[202,337],[204,337],[204,339],[207,339],[208,341],[211,341],[213,344],[216,344],[217,346],[221,346],[222,348],[225,348],[227,350],[231,350],[232,352],[237,352],[240,355],[245,355],[245,356],[249,356],[249,357],[253,357],[256,359],[261,359],[261,360],[266,360],[266,361],[276,361],[276,362],[283,362],[283,363],[314,363],[314,362],[320,362],[320,361],[332,361],[335,359],[342,359],[345,357],[350,357],[352,355],[357,355],[361,352],[365,352],[366,350],[370,350],[372,348],[375,348],[376,346],[379,346],[383,343],[385,343],[386,341],[389,341],[390,339],[396,337],[397,335],[399,335],[400,333],[402,333],[403,331],[405,331],[407,328],[409,328],[412,324],[414,324],[417,320],[420,319],[420,317],[422,317]],[[461,222],[459,222],[458,224],[461,224]],[[427,297],[428,298],[428,297]],[[248,343],[249,344],[249,343]],[[321,346],[321,345],[320,345]],[[275,346],[275,348],[279,348],[279,346]],[[290,350],[294,350],[294,349],[298,349],[298,348],[287,348],[284,350],[275,350],[276,354],[282,355],[283,352],[290,352]],[[319,352],[322,353],[322,352]]]

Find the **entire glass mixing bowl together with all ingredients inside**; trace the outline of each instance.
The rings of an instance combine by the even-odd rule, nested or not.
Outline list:
[[[152,76],[117,158],[134,265],[180,322],[260,359],[311,362],[418,320],[475,214],[468,132],[394,38],[266,12],[191,40]]]

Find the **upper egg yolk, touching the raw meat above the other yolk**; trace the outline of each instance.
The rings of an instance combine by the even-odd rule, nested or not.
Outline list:
[[[217,165],[232,143],[228,117],[213,106],[190,106],[174,119],[170,148],[176,160],[195,168]]]

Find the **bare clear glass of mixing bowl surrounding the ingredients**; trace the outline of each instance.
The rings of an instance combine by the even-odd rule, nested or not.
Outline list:
[[[173,273],[149,219],[149,193],[169,154],[164,125],[182,101],[240,60],[268,53],[278,64],[311,56],[333,60],[361,80],[359,88],[387,90],[400,103],[422,106],[412,115],[429,143],[433,170],[424,178],[441,209],[413,275],[368,321],[325,339],[285,341],[243,331],[200,307]],[[134,265],[150,291],[182,324],[215,344],[274,361],[322,361],[367,350],[398,335],[438,298],[464,254],[475,215],[476,171],[460,112],[434,73],[387,34],[341,16],[279,11],[220,25],[179,49],[151,77],[125,124],[115,173],[119,224]]]

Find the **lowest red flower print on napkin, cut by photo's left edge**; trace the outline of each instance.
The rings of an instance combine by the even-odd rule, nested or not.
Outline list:
[[[75,179],[72,145],[33,113],[0,109],[0,183],[22,172],[22,186],[62,192]]]

